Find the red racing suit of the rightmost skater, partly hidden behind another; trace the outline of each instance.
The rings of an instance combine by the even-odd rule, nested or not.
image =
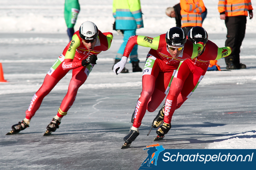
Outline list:
[[[230,47],[218,48],[208,40],[200,56],[184,61],[172,80],[169,94],[165,102],[164,122],[171,123],[175,109],[179,108],[188,98],[204,77],[210,60],[218,60],[230,55]]]

